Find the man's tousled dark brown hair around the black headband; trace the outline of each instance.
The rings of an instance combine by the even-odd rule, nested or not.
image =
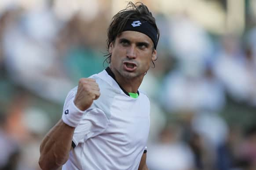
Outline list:
[[[148,7],[141,2],[133,4],[131,1],[128,3],[127,7],[117,14],[115,14],[111,20],[110,26],[107,29],[108,38],[107,43],[107,54],[105,55],[107,63],[111,61],[111,54],[109,53],[110,43],[114,43],[115,39],[121,34],[124,26],[128,19],[144,19],[150,24],[152,24],[157,29],[157,42],[159,40],[159,29],[157,28],[155,18],[149,11]],[[154,64],[154,63],[153,63]]]

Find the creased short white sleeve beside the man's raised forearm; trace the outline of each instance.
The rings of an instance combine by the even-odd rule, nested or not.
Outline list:
[[[107,127],[109,119],[99,108],[88,109],[84,113],[83,119],[76,127],[73,135],[75,145],[84,143],[89,138],[101,134]]]

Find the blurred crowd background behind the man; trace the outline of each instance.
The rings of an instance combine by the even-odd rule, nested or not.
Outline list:
[[[136,1],[133,1],[136,2]],[[161,37],[150,170],[256,170],[256,0],[141,0]],[[0,0],[0,170],[39,170],[39,146],[79,78],[108,66],[124,0]]]

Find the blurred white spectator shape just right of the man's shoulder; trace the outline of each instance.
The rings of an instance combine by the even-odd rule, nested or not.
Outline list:
[[[223,92],[223,87],[212,74],[210,67],[202,76],[172,71],[165,78],[162,104],[170,113],[183,110],[218,111],[225,103]]]

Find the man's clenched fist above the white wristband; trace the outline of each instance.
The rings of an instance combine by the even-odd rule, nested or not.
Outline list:
[[[78,109],[84,111],[88,109],[93,100],[98,99],[99,96],[99,85],[96,83],[95,79],[80,78],[74,104]]]

